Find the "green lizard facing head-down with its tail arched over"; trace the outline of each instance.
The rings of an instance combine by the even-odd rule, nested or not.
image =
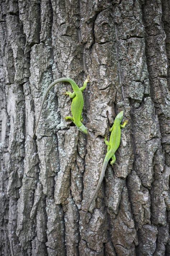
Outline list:
[[[83,109],[83,105],[84,105],[84,100],[83,100],[83,96],[82,96],[82,91],[84,91],[84,89],[86,88],[87,86],[87,83],[89,83],[89,76],[86,78],[86,80],[84,81],[84,84],[82,87],[79,88],[79,86],[75,83],[74,80],[72,80],[71,78],[68,78],[68,77],[63,77],[63,78],[59,78],[57,80],[55,80],[54,82],[52,82],[44,96],[43,96],[43,100],[42,100],[42,103],[41,103],[41,107],[40,107],[40,112],[39,112],[39,116],[38,116],[38,121],[37,121],[37,125],[38,125],[38,122],[39,122],[39,118],[41,116],[41,112],[42,112],[42,108],[43,108],[43,104],[44,104],[44,101],[47,97],[47,94],[49,92],[49,90],[51,90],[51,88],[60,83],[60,82],[69,82],[72,86],[72,89],[74,90],[73,93],[71,93],[70,91],[65,91],[63,94],[65,95],[69,95],[70,98],[72,99],[72,103],[71,103],[71,113],[72,113],[72,117],[71,116],[66,116],[64,119],[65,120],[71,120],[72,122],[74,122],[74,124],[77,126],[77,128],[82,131],[83,133],[85,134],[88,134],[88,130],[87,128],[84,126],[84,124],[82,123],[82,109]],[[37,125],[36,125],[36,128],[34,130],[34,134],[33,134],[33,137],[32,139],[34,138],[34,135],[36,133],[36,129],[37,129]]]

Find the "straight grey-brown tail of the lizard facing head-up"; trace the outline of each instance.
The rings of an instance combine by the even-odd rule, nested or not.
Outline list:
[[[108,153],[109,153],[109,152],[108,152]],[[108,153],[107,153],[107,154],[108,154]],[[96,187],[96,189],[95,189],[95,192],[94,192],[92,198],[90,199],[90,202],[89,202],[89,204],[88,204],[88,208],[87,208],[87,210],[86,210],[85,220],[86,220],[86,216],[87,216],[87,214],[88,214],[90,205],[91,205],[91,203],[93,202],[93,200],[94,200],[94,198],[95,198],[96,194],[98,193],[98,190],[99,190],[99,188],[100,188],[100,186],[101,186],[101,183],[102,183],[103,178],[104,178],[105,170],[106,170],[106,167],[107,167],[107,165],[108,165],[109,160],[110,160],[110,158],[106,155],[105,158],[104,158],[104,161],[103,161],[103,165],[102,165],[102,169],[101,169],[101,173],[100,173],[100,177],[99,177],[99,181],[98,181],[97,187]]]

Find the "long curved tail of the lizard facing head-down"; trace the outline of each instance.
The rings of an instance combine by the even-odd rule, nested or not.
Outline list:
[[[47,90],[46,90],[46,92],[45,92],[45,94],[44,94],[44,96],[43,96],[43,100],[42,100],[42,103],[41,103],[41,108],[40,108],[40,112],[39,112],[39,116],[38,116],[36,128],[35,128],[34,134],[33,134],[33,136],[32,136],[32,140],[33,140],[34,135],[35,135],[36,130],[37,130],[39,118],[40,118],[40,116],[41,116],[43,104],[44,104],[44,101],[45,101],[45,99],[46,99],[46,97],[47,97],[47,94],[49,93],[49,91],[51,90],[51,88],[52,88],[54,85],[56,85],[56,84],[58,84],[58,83],[60,83],[60,82],[69,82],[69,83],[71,84],[72,89],[73,89],[74,91],[80,90],[80,89],[79,89],[79,86],[75,83],[75,81],[72,80],[72,79],[69,78],[69,77],[59,78],[59,79],[55,80],[54,82],[52,82],[52,83],[48,86],[48,88],[47,88]]]

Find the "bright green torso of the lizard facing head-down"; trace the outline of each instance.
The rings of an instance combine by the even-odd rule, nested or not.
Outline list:
[[[84,100],[82,92],[76,93],[76,96],[72,99],[71,103],[71,113],[75,121],[80,121],[81,113],[84,105]]]

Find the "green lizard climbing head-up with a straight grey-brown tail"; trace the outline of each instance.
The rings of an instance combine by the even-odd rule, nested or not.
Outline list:
[[[120,141],[121,141],[121,128],[124,128],[127,125],[127,120],[123,123],[123,125],[121,125],[121,121],[123,119],[123,111],[121,111],[119,114],[117,114],[117,116],[115,117],[113,126],[109,129],[109,131],[111,131],[111,135],[110,135],[110,140],[108,142],[107,140],[107,136],[105,136],[104,142],[105,144],[108,146],[107,147],[107,154],[104,158],[103,161],[103,166],[101,169],[101,173],[100,173],[100,177],[99,177],[99,181],[97,184],[97,187],[95,189],[95,192],[92,196],[92,198],[90,199],[88,208],[86,210],[86,214],[85,214],[85,219],[86,219],[86,215],[89,211],[90,205],[93,202],[93,199],[95,198],[96,194],[98,193],[98,190],[100,188],[100,185],[103,181],[104,178],[104,174],[105,174],[105,170],[106,167],[108,165],[108,162],[110,160],[110,158],[112,158],[112,161],[110,162],[110,164],[113,166],[116,158],[115,158],[115,152],[117,151],[119,145],[120,145]]]

